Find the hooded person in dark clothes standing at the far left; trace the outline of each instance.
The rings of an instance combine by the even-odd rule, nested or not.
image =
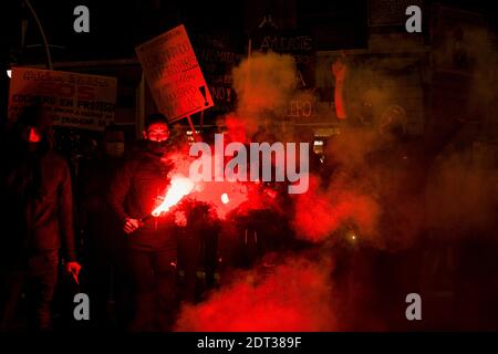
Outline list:
[[[30,325],[51,327],[51,303],[60,251],[77,279],[71,175],[52,150],[52,123],[41,106],[24,108],[3,139],[0,218],[0,327],[11,330],[23,287],[28,287]]]

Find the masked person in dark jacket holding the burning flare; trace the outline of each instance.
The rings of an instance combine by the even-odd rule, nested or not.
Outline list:
[[[172,212],[147,218],[169,186],[169,126],[162,114],[145,122],[145,146],[117,171],[108,195],[126,233],[125,249],[133,282],[131,331],[170,330],[176,310],[177,233]],[[147,219],[146,221],[142,221]]]

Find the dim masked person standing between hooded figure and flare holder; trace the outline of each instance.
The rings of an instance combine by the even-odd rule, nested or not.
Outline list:
[[[112,124],[104,131],[100,154],[83,160],[80,167],[79,221],[84,236],[86,269],[83,281],[92,299],[91,325],[98,330],[120,326],[125,317],[121,225],[106,199],[113,175],[124,159],[124,131]]]

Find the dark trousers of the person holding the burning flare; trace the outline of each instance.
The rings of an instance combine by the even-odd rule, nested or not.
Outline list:
[[[127,250],[133,284],[131,331],[170,331],[176,320],[176,253]]]

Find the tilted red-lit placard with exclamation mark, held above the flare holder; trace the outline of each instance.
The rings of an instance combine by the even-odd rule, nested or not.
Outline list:
[[[138,45],[136,54],[160,113],[177,121],[212,107],[212,98],[184,25]]]

